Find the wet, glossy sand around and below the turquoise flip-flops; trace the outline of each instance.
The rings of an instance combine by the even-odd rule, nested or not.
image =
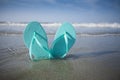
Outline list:
[[[120,36],[77,35],[66,58],[33,62],[22,35],[1,35],[0,80],[120,80]]]

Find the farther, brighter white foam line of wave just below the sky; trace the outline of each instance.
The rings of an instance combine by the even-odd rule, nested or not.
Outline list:
[[[0,22],[0,26],[26,26],[28,22]],[[44,27],[59,27],[61,23],[41,22]],[[74,27],[120,28],[120,23],[72,23]]]

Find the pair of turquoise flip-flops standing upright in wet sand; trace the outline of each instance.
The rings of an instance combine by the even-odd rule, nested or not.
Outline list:
[[[45,30],[39,22],[30,22],[24,31],[24,43],[31,60],[64,58],[76,40],[73,26],[63,23],[49,49]]]

